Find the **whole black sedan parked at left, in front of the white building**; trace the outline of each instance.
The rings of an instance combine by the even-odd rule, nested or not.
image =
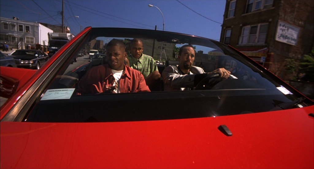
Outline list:
[[[20,49],[14,50],[9,55],[13,56],[17,67],[28,69],[39,69],[49,59],[41,50]]]

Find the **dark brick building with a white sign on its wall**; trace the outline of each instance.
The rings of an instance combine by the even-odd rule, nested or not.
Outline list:
[[[313,8],[313,0],[226,0],[220,42],[286,80],[285,59],[300,61],[313,46]]]

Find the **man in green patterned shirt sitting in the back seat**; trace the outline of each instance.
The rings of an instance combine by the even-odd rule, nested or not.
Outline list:
[[[147,86],[152,89],[160,78],[157,63],[153,57],[143,54],[142,40],[135,38],[131,40],[130,46],[131,54],[127,57],[130,67],[140,71],[145,78]]]

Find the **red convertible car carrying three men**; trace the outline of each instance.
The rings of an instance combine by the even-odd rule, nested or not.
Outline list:
[[[91,40],[143,40],[162,72],[176,49],[232,77],[195,90],[78,95]],[[104,42],[105,44],[106,42]],[[127,47],[128,49],[128,47]],[[158,54],[158,55],[157,55]],[[161,55],[160,55],[161,54]],[[82,63],[85,61],[84,63]],[[229,45],[194,35],[88,27],[39,70],[0,68],[0,168],[313,168],[314,103]]]

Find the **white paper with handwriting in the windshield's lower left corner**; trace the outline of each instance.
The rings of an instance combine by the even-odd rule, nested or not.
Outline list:
[[[49,89],[41,100],[70,99],[75,88]]]

